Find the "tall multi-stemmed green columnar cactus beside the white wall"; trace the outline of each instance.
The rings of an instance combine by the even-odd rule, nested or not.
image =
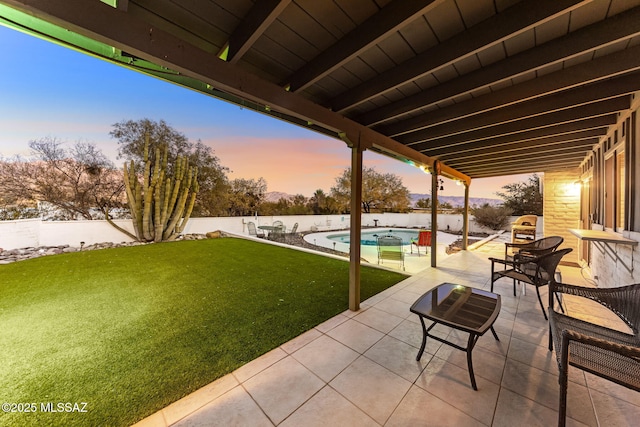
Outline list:
[[[136,237],[142,242],[174,240],[184,230],[198,193],[198,169],[178,156],[172,173],[167,169],[167,147],[149,158],[149,135],[144,142],[144,171],[133,160],[124,164],[124,182]],[[140,182],[142,179],[142,182]]]

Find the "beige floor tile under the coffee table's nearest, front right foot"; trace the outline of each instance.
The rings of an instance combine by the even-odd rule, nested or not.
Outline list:
[[[467,369],[434,357],[416,385],[483,424],[490,425],[500,387],[478,375],[476,382],[478,390],[471,387]]]

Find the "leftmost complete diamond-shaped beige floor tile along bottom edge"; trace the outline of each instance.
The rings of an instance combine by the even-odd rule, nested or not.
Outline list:
[[[287,418],[324,385],[292,357],[282,359],[243,383],[274,424]]]

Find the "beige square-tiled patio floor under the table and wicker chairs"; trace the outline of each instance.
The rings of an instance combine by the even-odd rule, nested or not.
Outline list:
[[[510,281],[497,282],[500,341],[485,334],[473,351],[478,391],[464,352],[428,340],[415,360],[422,330],[409,312],[413,301],[445,281],[488,290],[488,257],[503,255],[507,237],[441,256],[437,268],[364,301],[360,311],[329,319],[136,426],[555,425],[557,365],[533,288],[514,297]],[[580,269],[560,270],[563,281],[589,286]],[[565,302],[572,314],[600,316]],[[433,332],[462,344],[467,339],[443,326]],[[569,380],[567,425],[637,425],[640,393],[577,369]]]

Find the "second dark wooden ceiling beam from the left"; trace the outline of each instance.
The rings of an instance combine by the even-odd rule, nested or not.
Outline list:
[[[282,82],[282,86],[288,86],[292,92],[304,90],[362,51],[378,43],[389,33],[398,31],[406,24],[406,21],[424,15],[437,1],[393,1],[360,24],[338,43],[324,50],[315,59],[289,76],[286,81]]]

